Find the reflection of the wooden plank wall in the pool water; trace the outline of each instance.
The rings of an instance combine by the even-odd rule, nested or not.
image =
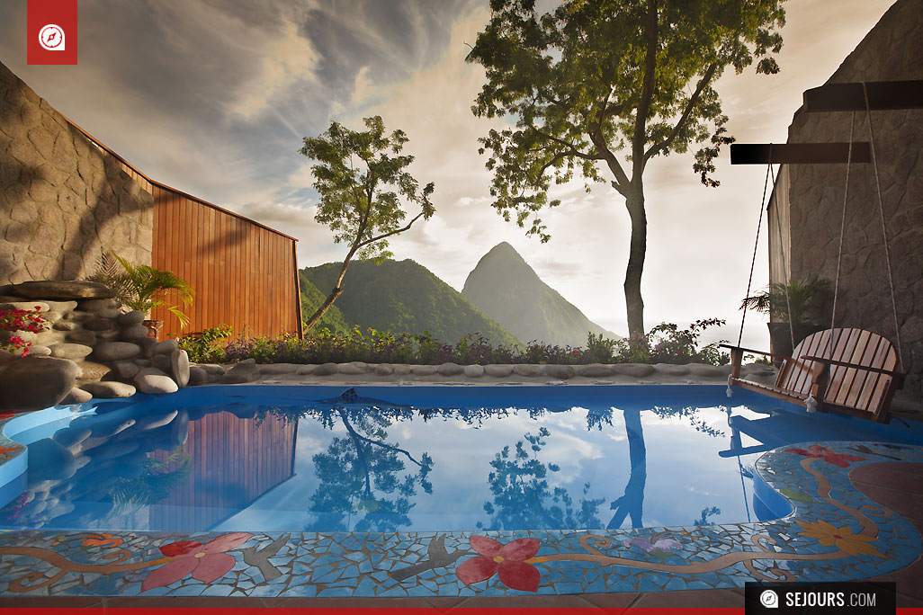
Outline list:
[[[165,500],[150,506],[150,530],[207,530],[294,476],[297,424],[268,417],[257,426],[255,420],[230,412],[191,421],[180,448],[189,455],[192,469]],[[150,455],[165,461],[170,453]]]

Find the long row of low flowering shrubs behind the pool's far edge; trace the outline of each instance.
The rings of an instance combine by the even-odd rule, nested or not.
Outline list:
[[[587,347],[551,346],[530,342],[524,348],[490,344],[479,334],[468,334],[452,346],[440,342],[428,332],[419,335],[382,333],[358,326],[348,335],[328,330],[312,332],[305,339],[291,333],[280,337],[250,337],[228,344],[223,349],[226,361],[253,359],[258,363],[412,363],[439,365],[454,362],[462,365],[488,363],[550,363],[585,365],[587,363],[688,363],[722,365],[730,361],[718,352],[719,342],[696,349],[701,331],[723,325],[718,319],[696,321],[689,329],[662,324],[646,336],[612,340],[589,335]],[[190,354],[190,358],[192,355]]]

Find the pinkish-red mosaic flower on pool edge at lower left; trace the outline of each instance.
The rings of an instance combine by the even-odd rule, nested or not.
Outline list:
[[[163,545],[161,552],[171,558],[172,562],[148,574],[141,583],[141,591],[172,585],[189,573],[202,583],[220,579],[234,568],[234,557],[224,551],[236,549],[250,538],[253,538],[253,534],[234,532],[219,536],[204,545],[195,540]]]

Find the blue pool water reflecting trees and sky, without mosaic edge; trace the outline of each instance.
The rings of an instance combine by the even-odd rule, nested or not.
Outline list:
[[[766,450],[923,444],[900,424],[806,414],[747,391],[729,399],[723,386],[208,387],[45,412],[16,435],[16,420],[6,425],[29,444],[29,469],[2,527],[739,523],[790,511],[754,484]]]

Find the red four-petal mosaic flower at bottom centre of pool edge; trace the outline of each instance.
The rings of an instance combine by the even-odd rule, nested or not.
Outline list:
[[[501,545],[493,538],[471,537],[471,546],[481,554],[462,563],[455,574],[465,585],[486,581],[499,573],[500,583],[510,589],[533,592],[538,590],[542,574],[533,565],[526,563],[538,552],[538,538],[519,538]]]

